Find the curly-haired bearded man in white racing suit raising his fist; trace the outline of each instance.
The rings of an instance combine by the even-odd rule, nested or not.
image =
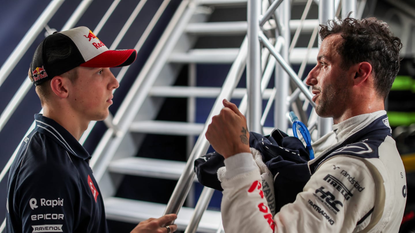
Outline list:
[[[406,202],[402,160],[384,101],[400,66],[400,39],[375,18],[320,25],[317,65],[306,83],[315,111],[332,117],[331,133],[313,145],[310,180],[272,216],[235,104],[212,118],[206,138],[225,157],[222,218],[233,232],[398,232]],[[325,146],[325,145],[330,146]],[[278,174],[273,174],[278,176]],[[293,174],[298,175],[298,174]],[[275,179],[275,177],[274,177]]]

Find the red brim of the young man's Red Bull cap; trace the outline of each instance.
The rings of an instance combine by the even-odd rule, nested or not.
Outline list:
[[[135,61],[136,57],[137,51],[135,49],[108,50],[79,66],[94,68],[128,66]]]

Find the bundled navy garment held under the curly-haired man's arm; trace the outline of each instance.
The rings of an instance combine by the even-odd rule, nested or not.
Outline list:
[[[249,132],[249,146],[261,152],[262,161],[274,176],[275,209],[278,212],[285,204],[295,201],[295,196],[310,180],[307,165],[310,155],[300,139],[278,129],[269,136]],[[225,166],[222,155],[209,153],[196,159],[194,166],[201,184],[223,191],[216,175],[218,168]]]

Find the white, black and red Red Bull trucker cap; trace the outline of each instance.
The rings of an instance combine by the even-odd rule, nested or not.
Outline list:
[[[88,27],[76,27],[47,36],[34,52],[30,71],[37,86],[77,66],[128,66],[136,56],[134,49],[109,50]]]

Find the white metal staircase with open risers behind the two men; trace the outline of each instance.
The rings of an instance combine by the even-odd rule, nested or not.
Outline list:
[[[235,8],[239,8],[239,10],[241,7],[246,9],[246,6],[247,0],[184,0],[178,7],[171,24],[168,25],[166,32],[161,36],[154,52],[150,55],[114,116],[112,123],[117,126],[117,132],[114,129],[107,130],[91,160],[95,178],[99,181],[104,197],[108,219],[137,223],[149,217],[156,218],[164,213],[167,207],[165,204],[114,197],[121,182],[120,175],[138,175],[169,180],[178,180],[179,177],[183,176],[182,173],[186,169],[185,162],[142,158],[139,155],[138,157],[134,155],[137,154],[146,133],[188,136],[190,144],[194,136],[199,136],[203,132],[205,124],[195,123],[194,121],[195,99],[220,99],[218,95],[220,96],[223,88],[198,87],[195,85],[198,64],[234,63],[234,65],[240,66],[238,63],[241,62],[237,57],[244,52],[243,50],[246,53],[247,46],[246,44],[245,46],[233,44],[233,47],[223,47],[220,43],[217,44],[219,45],[217,47],[209,43],[201,45],[200,38],[203,40],[205,35],[209,35],[210,39],[215,36],[227,36],[227,39],[234,36],[233,41],[238,41],[239,36],[240,41],[241,36],[243,38],[247,33],[248,23],[246,21],[240,21],[240,19],[231,21],[232,19],[229,20],[231,16],[227,17],[228,21],[224,22],[211,22],[210,19],[216,10],[232,14],[231,12]],[[303,24],[304,31],[310,32],[316,27],[317,22],[317,19],[305,20],[302,23],[300,23],[300,19],[292,20],[290,29],[295,32],[298,25]],[[217,38],[212,40],[218,41]],[[315,63],[317,48],[312,48],[309,52],[309,58],[304,61],[306,51],[307,48],[305,47],[295,47],[289,62],[294,64]],[[272,58],[266,59],[271,60]],[[189,70],[189,83],[193,83],[193,85],[171,86],[183,67]],[[239,69],[237,73],[241,73],[243,69]],[[271,67],[271,69],[273,68]],[[232,71],[229,73],[232,73]],[[205,75],[205,77],[207,76]],[[220,77],[212,77],[212,79],[214,78]],[[235,79],[237,77],[230,78]],[[234,80],[234,83],[237,84],[237,80]],[[231,92],[232,90],[229,89],[227,95],[230,95]],[[242,99],[246,92],[245,88],[238,88],[233,92],[232,98]],[[269,99],[271,93],[272,87],[264,91],[262,98]],[[164,98],[178,97],[188,98],[189,121],[154,120]],[[203,121],[208,121],[208,118],[203,119]],[[288,121],[286,122],[288,124]],[[272,128],[267,128],[265,131],[270,131],[270,129]],[[190,146],[193,146],[193,143]],[[196,147],[198,146],[196,145]],[[183,153],[189,154],[190,151],[186,152],[186,149],[183,149]],[[193,162],[190,161],[190,163]],[[189,182],[194,181],[193,176]],[[193,210],[190,207],[180,208],[178,219],[175,221],[179,230],[184,230],[189,225]],[[207,210],[204,211],[201,217],[197,231],[216,232],[220,226],[220,212]]]

